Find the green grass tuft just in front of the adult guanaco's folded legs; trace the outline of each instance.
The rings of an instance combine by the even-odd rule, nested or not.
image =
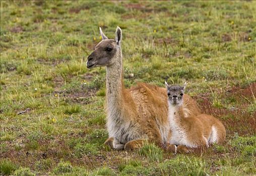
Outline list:
[[[163,159],[163,151],[154,144],[145,144],[140,148],[139,153],[142,156],[146,156],[151,161],[159,162]]]

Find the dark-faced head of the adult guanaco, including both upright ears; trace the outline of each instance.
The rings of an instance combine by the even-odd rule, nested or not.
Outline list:
[[[108,39],[100,28],[100,41],[94,48],[94,51],[88,56],[87,68],[94,68],[96,66],[109,66],[120,59],[117,54],[121,50],[122,31],[117,26],[115,32],[115,40]]]

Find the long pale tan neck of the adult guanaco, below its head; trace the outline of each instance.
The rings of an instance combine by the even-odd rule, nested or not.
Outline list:
[[[106,67],[106,98],[108,113],[121,113],[123,105],[123,83],[122,83],[122,51],[118,48],[114,56],[115,63]],[[113,115],[112,115],[113,116]]]

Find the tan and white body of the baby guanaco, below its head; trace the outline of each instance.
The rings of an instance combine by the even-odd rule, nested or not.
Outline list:
[[[171,127],[170,146],[167,150],[173,152],[173,144],[175,144],[179,145],[175,152],[187,153],[192,151],[191,148],[208,147],[209,144],[221,143],[225,140],[225,127],[213,116],[201,114],[185,117],[183,106],[169,105],[169,109],[171,109],[169,118],[172,119],[171,122],[175,122],[175,127]],[[174,133],[181,135],[174,136]]]

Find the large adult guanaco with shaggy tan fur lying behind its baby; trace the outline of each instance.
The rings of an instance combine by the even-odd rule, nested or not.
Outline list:
[[[117,27],[116,40],[107,39],[102,31],[101,35],[103,40],[88,56],[87,67],[106,66],[106,126],[109,139],[105,144],[117,150],[138,148],[145,140],[165,145],[169,133],[166,89],[146,83],[125,89],[121,30]],[[107,51],[108,47],[112,48],[111,51]],[[185,100],[188,111],[200,112],[194,100],[189,96]]]

